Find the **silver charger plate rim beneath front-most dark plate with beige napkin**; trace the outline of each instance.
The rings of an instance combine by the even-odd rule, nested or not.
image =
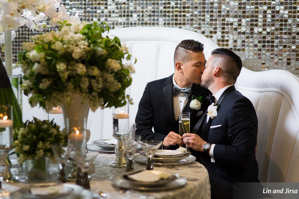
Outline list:
[[[123,176],[116,176],[112,179],[112,185],[116,187],[121,187],[125,189],[134,189],[139,191],[162,191],[162,190],[169,190],[169,189],[176,189],[179,187],[183,187],[187,184],[186,178],[177,178],[176,180],[165,184],[164,186],[158,186],[158,187],[143,187],[143,186],[135,186],[126,180],[123,179]]]

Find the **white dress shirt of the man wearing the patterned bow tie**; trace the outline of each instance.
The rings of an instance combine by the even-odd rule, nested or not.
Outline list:
[[[178,86],[178,84],[174,81],[174,75],[172,76],[172,82],[173,82],[173,86],[176,86],[179,89],[184,89],[184,88],[181,88],[180,86]],[[187,88],[192,88],[192,84],[187,86],[185,89],[187,89]],[[178,120],[178,117],[182,113],[187,102],[188,102],[188,98],[185,96],[184,93],[180,93],[177,96],[173,96],[173,112],[174,112],[175,121]]]

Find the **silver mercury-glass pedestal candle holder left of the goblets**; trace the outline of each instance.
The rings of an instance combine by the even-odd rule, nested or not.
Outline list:
[[[115,147],[115,160],[109,164],[111,167],[126,167],[125,147],[121,141],[121,136],[128,133],[129,125],[113,125],[113,137],[117,140],[117,145]]]

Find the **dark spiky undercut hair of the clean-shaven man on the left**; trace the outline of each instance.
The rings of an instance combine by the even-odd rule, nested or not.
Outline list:
[[[174,51],[174,64],[176,62],[183,62],[187,61],[190,56],[190,51],[192,52],[203,52],[204,45],[200,43],[199,41],[196,41],[194,39],[186,39],[181,41]]]

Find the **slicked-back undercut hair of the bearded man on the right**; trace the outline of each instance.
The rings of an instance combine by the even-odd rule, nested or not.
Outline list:
[[[233,78],[236,81],[242,69],[241,58],[232,50],[225,48],[215,49],[211,55],[216,58],[216,60],[213,60],[213,65],[219,64],[221,66],[224,77],[227,80]]]

